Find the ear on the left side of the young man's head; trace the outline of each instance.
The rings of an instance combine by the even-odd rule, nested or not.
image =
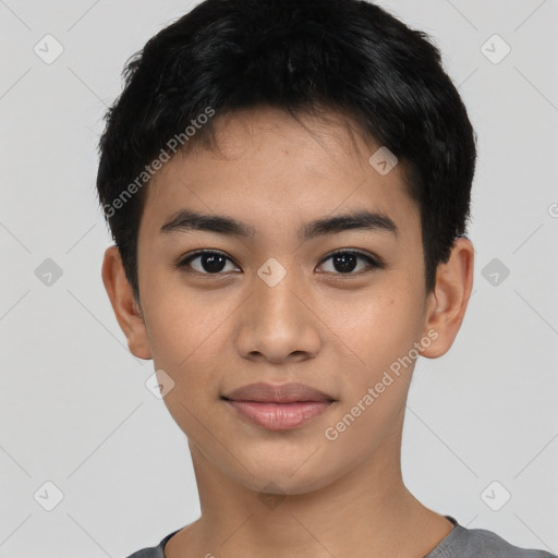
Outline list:
[[[142,310],[125,276],[117,246],[106,250],[101,275],[117,320],[126,336],[130,352],[138,359],[153,359]]]

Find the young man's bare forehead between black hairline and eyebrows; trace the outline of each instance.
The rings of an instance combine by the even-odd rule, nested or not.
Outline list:
[[[181,209],[234,216],[256,233],[361,208],[420,227],[402,165],[385,172],[385,148],[349,117],[251,109],[217,116],[214,131],[211,148],[174,156],[151,180],[142,219],[149,234]]]

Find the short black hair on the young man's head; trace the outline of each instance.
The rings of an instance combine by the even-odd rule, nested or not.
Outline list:
[[[427,292],[466,233],[476,162],[466,109],[430,37],[374,3],[205,0],[150,38],[122,75],[99,141],[97,191],[137,301],[150,163],[171,146],[210,147],[209,117],[236,109],[326,107],[386,146],[420,208]]]

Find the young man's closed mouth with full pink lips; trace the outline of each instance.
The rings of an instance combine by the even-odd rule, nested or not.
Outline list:
[[[304,384],[251,384],[221,398],[250,423],[268,430],[296,428],[324,413],[336,401]]]

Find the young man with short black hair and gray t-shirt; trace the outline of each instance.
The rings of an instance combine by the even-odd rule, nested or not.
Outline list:
[[[207,0],[101,137],[102,279],[202,515],[133,557],[550,557],[403,484],[418,355],[461,326],[475,137],[438,50],[356,0]]]

